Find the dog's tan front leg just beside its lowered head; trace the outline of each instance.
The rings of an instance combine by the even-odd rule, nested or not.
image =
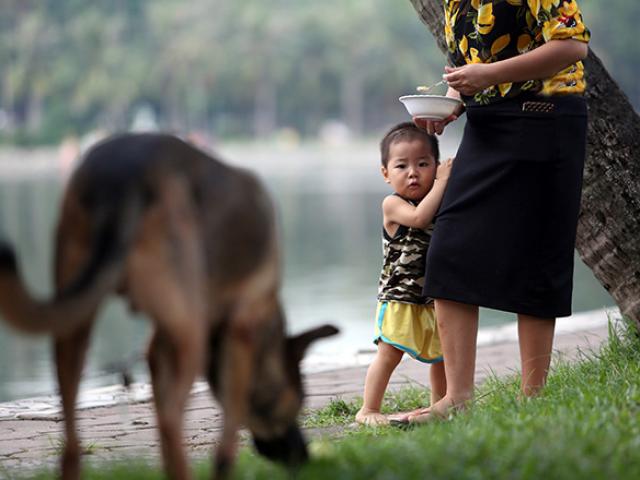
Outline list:
[[[254,358],[254,333],[246,323],[231,322],[224,345],[224,365],[220,402],[224,410],[222,438],[216,451],[213,478],[228,478],[237,453],[237,435],[246,421]],[[234,325],[235,323],[235,325]]]

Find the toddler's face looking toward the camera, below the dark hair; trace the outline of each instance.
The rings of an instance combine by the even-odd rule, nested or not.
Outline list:
[[[389,146],[389,161],[386,168],[382,167],[382,175],[400,196],[420,201],[433,186],[436,168],[427,142],[401,140]]]

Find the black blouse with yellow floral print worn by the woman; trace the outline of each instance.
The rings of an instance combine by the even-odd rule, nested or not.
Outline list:
[[[588,42],[575,0],[444,0],[445,38],[453,65],[492,63],[533,50],[549,40]],[[467,105],[485,105],[522,92],[581,94],[584,66],[575,63],[544,80],[501,83],[473,97]]]

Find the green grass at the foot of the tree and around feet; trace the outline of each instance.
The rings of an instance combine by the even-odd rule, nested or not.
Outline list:
[[[424,404],[423,388],[386,398],[389,410]],[[296,479],[637,479],[640,478],[640,339],[631,326],[611,331],[600,351],[553,367],[543,394],[518,400],[513,378],[492,378],[473,408],[447,421],[399,430],[348,428],[314,440],[314,458]],[[336,400],[307,426],[353,422],[359,401]],[[104,469],[86,478],[162,478]],[[198,466],[206,478],[209,466]],[[49,478],[46,476],[39,478]],[[286,471],[242,449],[238,479],[288,479]]]

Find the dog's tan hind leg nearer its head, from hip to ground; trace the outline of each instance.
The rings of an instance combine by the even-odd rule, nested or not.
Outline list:
[[[148,360],[162,457],[174,479],[190,477],[183,416],[203,371],[208,335],[204,251],[187,187],[180,178],[162,180],[158,203],[143,217],[126,280],[133,304],[155,322]]]

